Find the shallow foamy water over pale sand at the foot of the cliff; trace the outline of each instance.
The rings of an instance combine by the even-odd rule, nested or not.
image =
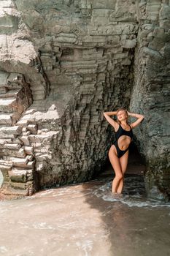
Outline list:
[[[113,176],[0,202],[0,255],[170,255],[170,204],[147,200],[143,176]]]

